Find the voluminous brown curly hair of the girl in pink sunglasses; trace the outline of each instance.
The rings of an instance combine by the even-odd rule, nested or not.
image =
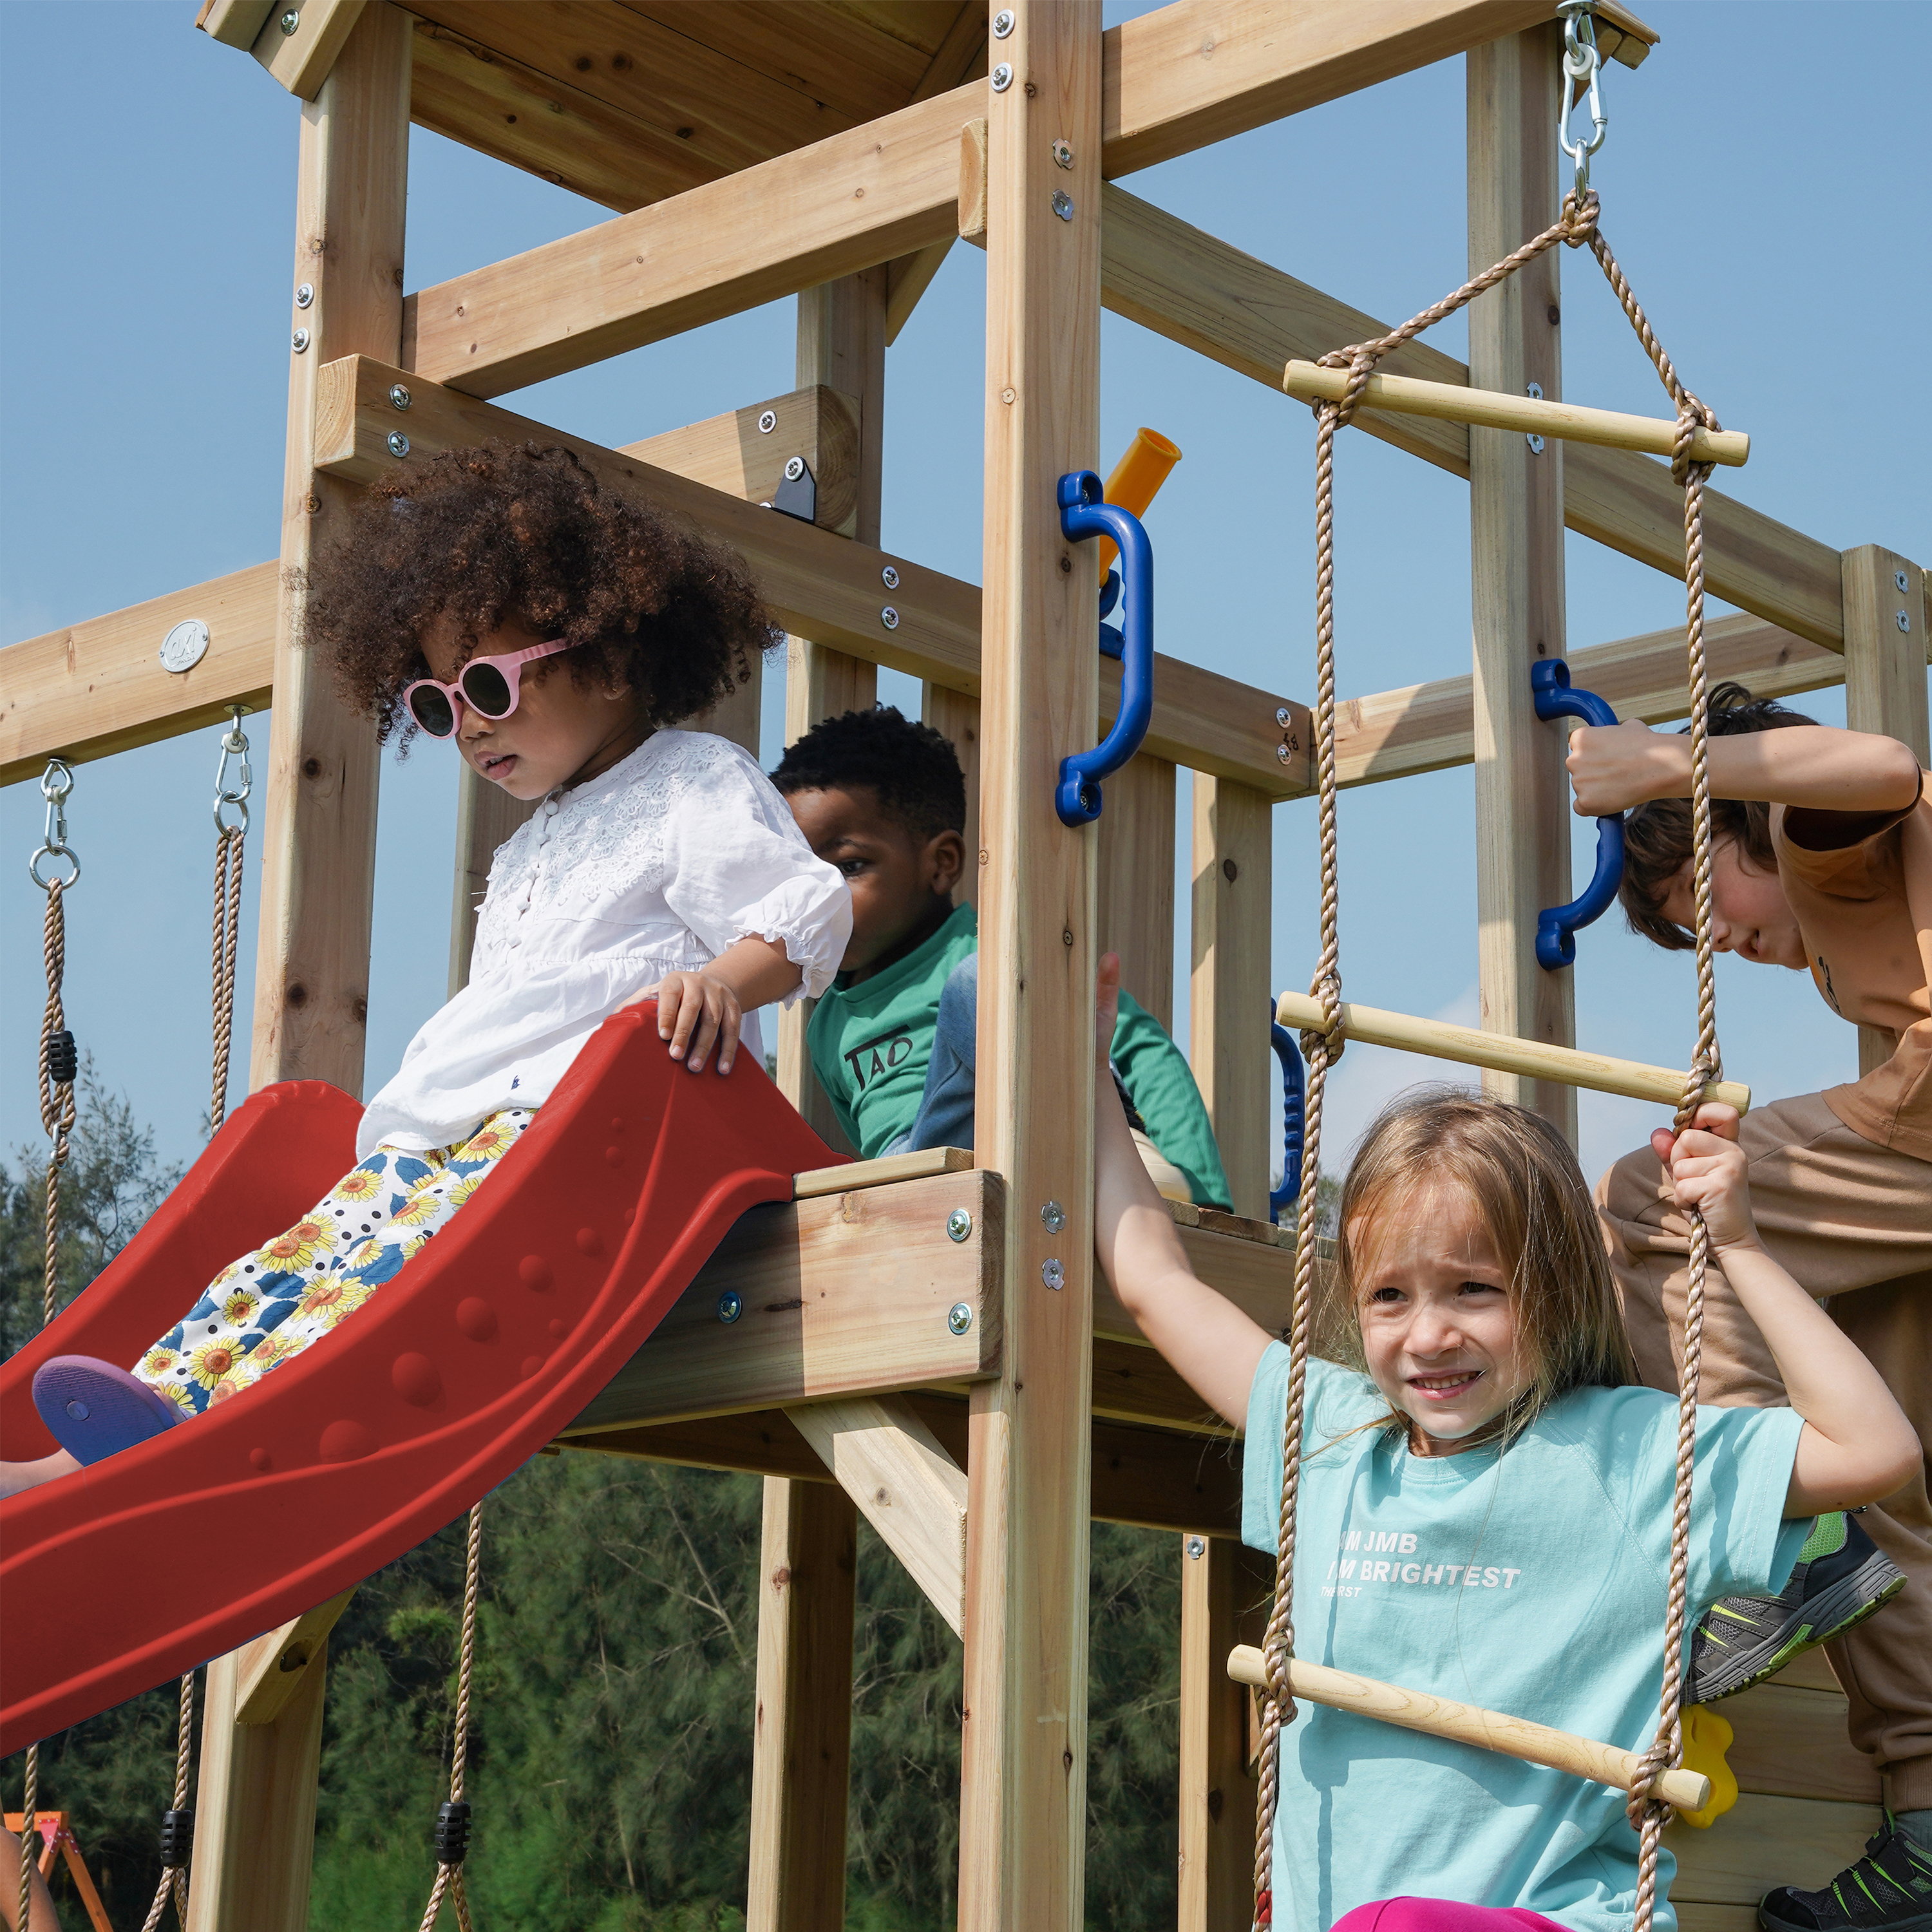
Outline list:
[[[423,632],[439,618],[464,657],[512,618],[566,638],[572,680],[628,684],[653,728],[711,709],[779,638],[742,556],[535,442],[442,450],[373,483],[307,587],[307,641],[404,744],[402,692],[431,674]]]

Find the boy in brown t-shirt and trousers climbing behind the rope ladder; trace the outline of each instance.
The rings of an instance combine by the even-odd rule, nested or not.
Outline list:
[[[1832,730],[1737,684],[1710,705],[1712,898],[1719,952],[1810,970],[1839,1018],[1880,1028],[1891,1057],[1861,1080],[1745,1115],[1750,1198],[1764,1246],[1826,1300],[1884,1374],[1920,1441],[1932,1437],[1932,800],[1893,738]],[[1571,736],[1577,811],[1625,811],[1623,906],[1660,947],[1694,945],[1690,744],[1644,724]],[[1598,1184],[1638,1368],[1677,1385],[1689,1229],[1646,1148]],[[1706,1285],[1704,1401],[1779,1406],[1772,1358],[1714,1269]],[[1866,1534],[1870,1544],[1866,1544]],[[1830,1544],[1837,1530],[1814,1542]],[[1876,1544],[1876,1549],[1872,1549]],[[1810,1551],[1810,1546],[1806,1546]],[[1889,1559],[1889,1563],[1886,1561]],[[1897,1577],[1889,1565],[1905,1573]],[[1851,1739],[1884,1774],[1893,1818],[1868,1857],[1820,1893],[1764,1901],[1766,1926],[1928,1926],[1932,1895],[1932,1505],[1920,1474],[1872,1503],[1795,1575],[1776,1604],[1712,1613],[1692,1646],[1698,1692],[1723,1696],[1781,1667],[1806,1631],[1843,1629],[1828,1656],[1851,1702]],[[1801,1573],[1804,1565],[1801,1565]],[[1837,1578],[1835,1594],[1820,1578]],[[1830,1600],[1828,1600],[1830,1598]]]

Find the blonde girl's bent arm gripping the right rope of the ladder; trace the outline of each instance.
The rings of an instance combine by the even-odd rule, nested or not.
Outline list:
[[[1859,1345],[1758,1242],[1737,1111],[1704,1105],[1675,1142],[1665,1130],[1650,1142],[1669,1161],[1677,1206],[1702,1209],[1712,1258],[1758,1323],[1804,1418],[1785,1515],[1857,1509],[1903,1488],[1918,1468],[1918,1437]]]

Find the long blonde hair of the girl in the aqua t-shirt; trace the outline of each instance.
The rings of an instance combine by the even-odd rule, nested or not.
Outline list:
[[[1368,1370],[1362,1277],[1378,1227],[1405,1202],[1453,1186],[1474,1204],[1509,1275],[1517,1341],[1530,1381],[1482,1437],[1520,1434],[1571,1389],[1634,1383],[1636,1358],[1598,1229],[1596,1208],[1569,1142],[1524,1107],[1463,1088],[1397,1095],[1364,1134],[1341,1188],[1341,1225],[1323,1341]],[[1408,1426],[1391,1410],[1379,1426]],[[1354,1434],[1354,1432],[1350,1432]]]

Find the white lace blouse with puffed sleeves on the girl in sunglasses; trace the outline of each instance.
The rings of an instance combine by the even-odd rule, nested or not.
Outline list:
[[[369,1101],[357,1159],[384,1142],[446,1148],[502,1107],[541,1107],[626,999],[748,935],[800,968],[784,1005],[817,997],[850,933],[844,879],[757,763],[709,732],[661,730],[498,846],[469,983]],[[753,1014],[742,1051],[763,1059]]]

